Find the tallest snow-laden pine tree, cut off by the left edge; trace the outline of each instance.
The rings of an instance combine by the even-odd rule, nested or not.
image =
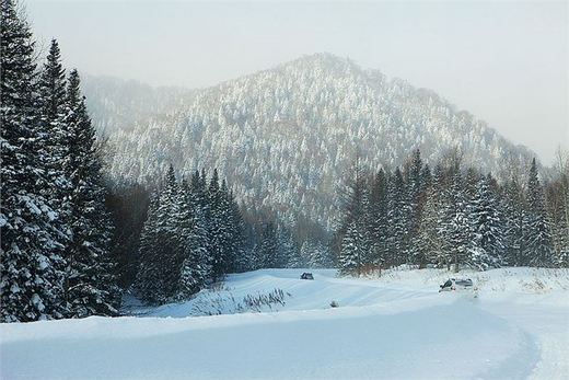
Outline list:
[[[42,196],[46,186],[36,97],[34,42],[11,0],[1,2],[0,321],[60,318],[65,274],[57,212]]]

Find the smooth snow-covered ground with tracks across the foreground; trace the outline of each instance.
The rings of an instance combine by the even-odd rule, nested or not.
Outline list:
[[[438,269],[302,272],[232,275],[189,302],[130,303],[138,316],[2,324],[0,378],[569,379],[566,269],[461,273],[477,298],[439,293],[452,275]],[[276,288],[284,304],[244,312]]]

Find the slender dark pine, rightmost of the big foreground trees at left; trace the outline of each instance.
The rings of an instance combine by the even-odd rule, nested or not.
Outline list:
[[[112,224],[105,208],[95,130],[80,92],[77,70],[69,76],[65,123],[69,128],[66,171],[71,185],[71,241],[66,246],[66,298],[70,303],[70,315],[114,315],[120,295],[115,264],[109,256]]]

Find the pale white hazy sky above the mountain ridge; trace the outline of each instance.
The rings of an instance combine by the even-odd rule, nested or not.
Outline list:
[[[67,66],[208,87],[329,51],[429,88],[551,163],[569,148],[568,2],[27,0]]]

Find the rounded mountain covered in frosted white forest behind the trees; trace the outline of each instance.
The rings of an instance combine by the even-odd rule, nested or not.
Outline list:
[[[120,89],[106,91],[116,95],[111,100],[98,97],[105,91],[85,93],[98,125],[118,117],[115,113],[105,119],[105,110],[113,112],[115,101],[128,99]],[[305,56],[191,96],[171,92],[160,97],[164,103],[155,99],[136,97],[131,106],[116,108],[132,110],[137,117],[158,111],[144,122],[126,116],[129,127],[106,128],[112,129],[113,177],[153,181],[170,163],[185,174],[218,168],[242,201],[291,218],[303,214],[327,228],[336,216],[338,181],[357,157],[375,170],[400,164],[415,148],[429,162],[460,147],[465,163],[499,176],[508,158],[534,156],[432,91],[328,54]],[[176,100],[179,107],[172,106]]]

